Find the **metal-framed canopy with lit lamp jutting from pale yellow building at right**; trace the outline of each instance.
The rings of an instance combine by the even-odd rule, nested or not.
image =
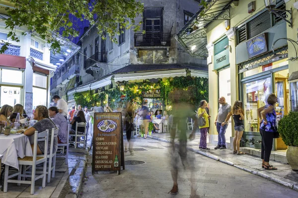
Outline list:
[[[230,4],[234,0],[207,0],[206,7],[201,6],[199,11],[188,21],[176,35],[176,40],[195,57],[208,57],[207,26],[212,21],[229,20]]]

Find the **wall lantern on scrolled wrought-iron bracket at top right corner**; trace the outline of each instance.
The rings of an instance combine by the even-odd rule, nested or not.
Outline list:
[[[290,10],[285,9],[276,9],[276,0],[264,0],[265,6],[274,15],[280,17],[287,23],[289,23],[289,26],[293,28],[293,21],[292,21],[292,7]],[[290,18],[290,19],[287,19]]]

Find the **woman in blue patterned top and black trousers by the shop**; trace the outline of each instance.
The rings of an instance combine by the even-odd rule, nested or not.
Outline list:
[[[276,112],[274,110],[277,98],[274,94],[270,94],[265,106],[258,108],[259,118],[263,118],[260,125],[260,133],[262,136],[261,159],[262,168],[267,170],[277,170],[276,167],[269,164],[270,154],[273,144],[273,134],[277,132]]]

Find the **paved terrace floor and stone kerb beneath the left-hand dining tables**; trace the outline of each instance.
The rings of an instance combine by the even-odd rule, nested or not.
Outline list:
[[[90,139],[90,138],[89,138]],[[88,143],[90,143],[88,141]],[[81,145],[82,146],[82,145]],[[84,178],[88,148],[70,147],[68,165],[65,158],[56,158],[55,178],[41,188],[42,179],[35,182],[35,193],[30,195],[30,185],[9,183],[7,193],[0,191],[0,198],[65,198],[77,197]],[[2,178],[4,181],[4,175]]]

